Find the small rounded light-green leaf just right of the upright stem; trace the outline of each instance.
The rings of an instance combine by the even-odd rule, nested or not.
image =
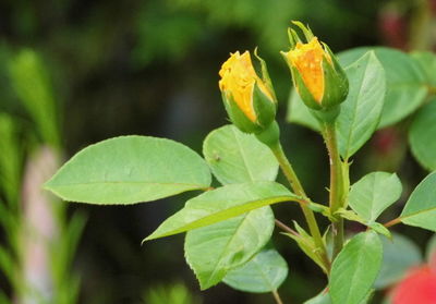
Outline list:
[[[401,192],[401,181],[396,173],[373,172],[351,186],[349,204],[364,220],[373,222],[400,198]]]

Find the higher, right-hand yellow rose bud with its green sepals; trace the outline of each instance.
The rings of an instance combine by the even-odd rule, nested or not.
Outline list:
[[[329,110],[346,100],[348,78],[327,45],[319,42],[311,29],[294,22],[305,42],[290,29],[291,49],[281,52],[287,61],[294,86],[304,104],[314,110]]]

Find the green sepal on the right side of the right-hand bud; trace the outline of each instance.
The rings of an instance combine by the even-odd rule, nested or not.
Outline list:
[[[335,54],[331,53],[327,45],[323,45],[330,54],[331,63],[326,57],[323,57],[324,95],[320,104],[323,108],[329,109],[346,100],[349,83],[346,72],[337,62]]]

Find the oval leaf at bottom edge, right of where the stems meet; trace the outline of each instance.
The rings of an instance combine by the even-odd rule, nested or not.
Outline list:
[[[361,303],[377,278],[383,247],[374,231],[354,235],[331,266],[329,292],[334,304]]]

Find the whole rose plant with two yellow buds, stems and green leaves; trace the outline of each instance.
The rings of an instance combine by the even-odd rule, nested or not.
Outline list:
[[[396,173],[370,172],[351,183],[351,159],[377,129],[420,109],[409,130],[410,145],[423,167],[436,169],[436,102],[429,98],[435,78],[428,71],[436,59],[387,48],[335,56],[300,22],[293,22],[289,39],[290,49],[281,52],[294,86],[288,120],[324,137],[330,167],[326,202],[312,200],[283,151],[278,100],[256,50],[231,53],[219,71],[232,125],[205,138],[204,157],[170,139],[121,136],[77,153],[46,189],[64,200],[99,205],[201,191],[144,242],[186,233],[185,258],[202,290],[225,282],[246,292],[271,292],[283,303],[278,288],[288,266],[270,242],[277,226],[328,279],[326,289],[306,303],[368,302],[375,282],[384,279],[384,244],[396,240],[391,227],[436,230],[436,172],[414,189],[397,218],[382,223],[380,214],[401,196],[401,181]],[[288,185],[276,182],[279,168]],[[211,186],[213,177],[220,185]],[[305,224],[277,220],[271,205],[279,203],[299,205]],[[320,227],[320,217],[327,227]],[[348,234],[344,222],[366,229]]]

